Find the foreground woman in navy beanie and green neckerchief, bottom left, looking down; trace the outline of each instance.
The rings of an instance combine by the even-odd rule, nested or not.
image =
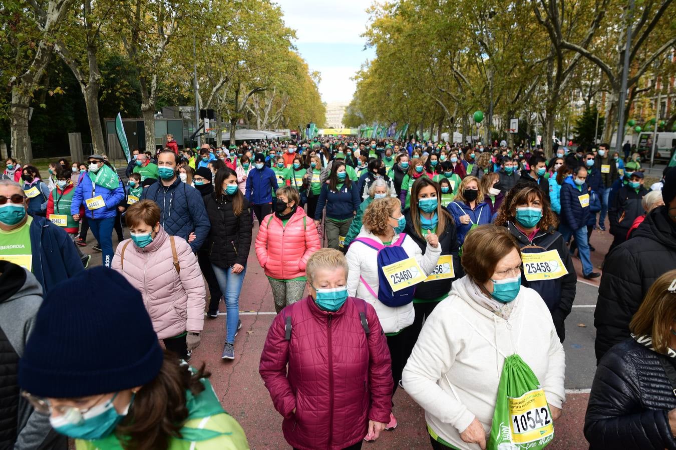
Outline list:
[[[82,296],[82,286],[96,295]],[[205,366],[194,370],[162,351],[144,302],[103,267],[59,283],[21,358],[24,398],[81,450],[248,448]],[[82,326],[83,311],[92,326]]]

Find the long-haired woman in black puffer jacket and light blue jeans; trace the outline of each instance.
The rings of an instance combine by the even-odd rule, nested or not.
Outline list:
[[[208,248],[209,260],[224,294],[227,334],[222,359],[235,359],[235,336],[241,328],[239,293],[247,271],[251,247],[251,213],[249,202],[237,186],[237,173],[230,167],[216,173],[214,192],[204,198],[204,206],[212,227],[203,247]],[[212,296],[209,314],[218,314],[220,298]]]

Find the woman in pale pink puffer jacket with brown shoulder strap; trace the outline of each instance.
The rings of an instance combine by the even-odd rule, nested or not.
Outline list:
[[[189,244],[160,225],[160,206],[141,200],[127,208],[131,239],[118,244],[112,268],[141,291],[155,333],[164,346],[190,360],[199,345],[206,289]]]

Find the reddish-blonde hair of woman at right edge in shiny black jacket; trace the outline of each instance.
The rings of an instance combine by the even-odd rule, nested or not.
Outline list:
[[[635,336],[652,337],[652,346],[661,354],[669,351],[671,327],[676,318],[676,292],[668,290],[675,280],[676,270],[656,279],[629,322],[631,333]]]

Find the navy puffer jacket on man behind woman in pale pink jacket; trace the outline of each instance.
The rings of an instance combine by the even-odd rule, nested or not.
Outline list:
[[[170,186],[161,181],[151,184],[143,190],[141,200],[153,200],[160,206],[160,225],[172,236],[187,240],[195,233],[190,243],[193,252],[197,252],[209,235],[211,225],[199,191],[176,177]]]

